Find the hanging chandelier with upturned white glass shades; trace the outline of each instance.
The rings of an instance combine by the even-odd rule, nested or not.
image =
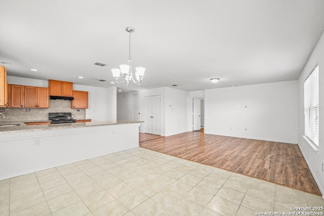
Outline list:
[[[112,68],[112,76],[115,79],[115,82],[118,84],[126,82],[127,85],[130,84],[130,81],[132,80],[136,85],[140,85],[144,76],[145,68],[144,67],[136,67],[136,79],[133,77],[133,72],[132,72],[132,58],[131,58],[131,33],[134,32],[134,28],[132,27],[127,27],[126,31],[130,32],[130,39],[129,39],[129,55],[128,55],[128,64],[125,65],[119,65],[119,68]],[[118,82],[118,78],[120,76],[120,73],[123,74],[124,81]]]

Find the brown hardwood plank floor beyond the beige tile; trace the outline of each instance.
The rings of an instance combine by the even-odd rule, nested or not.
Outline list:
[[[140,147],[321,195],[298,145],[198,132],[149,137],[140,133]]]

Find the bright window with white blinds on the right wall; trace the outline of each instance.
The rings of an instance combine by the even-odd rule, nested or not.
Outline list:
[[[318,64],[304,82],[305,136],[318,147]]]

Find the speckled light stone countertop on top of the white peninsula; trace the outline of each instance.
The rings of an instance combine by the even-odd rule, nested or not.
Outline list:
[[[97,121],[97,122],[84,122],[84,123],[40,124],[40,125],[26,125],[24,123],[24,122],[48,122],[48,121],[49,120],[0,121],[0,134],[144,122],[144,121],[134,121],[134,120],[117,120],[117,121]],[[20,125],[1,126],[1,125],[8,125],[8,124],[20,124]]]

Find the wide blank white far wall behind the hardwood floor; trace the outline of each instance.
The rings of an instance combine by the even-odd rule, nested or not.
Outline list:
[[[298,81],[205,90],[205,133],[297,144]]]

